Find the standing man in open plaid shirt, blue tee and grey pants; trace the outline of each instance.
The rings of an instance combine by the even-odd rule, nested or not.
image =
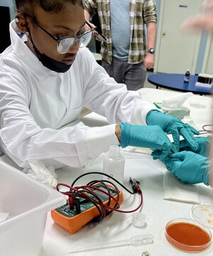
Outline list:
[[[88,22],[94,14],[99,15],[107,38],[101,48],[102,66],[107,73],[116,82],[124,82],[128,90],[143,87],[146,68],[154,65],[155,0],[84,0],[84,14]]]

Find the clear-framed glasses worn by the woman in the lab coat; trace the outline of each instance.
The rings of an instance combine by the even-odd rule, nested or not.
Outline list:
[[[31,18],[33,18],[33,17],[31,17]],[[48,31],[46,31],[45,28],[40,26],[35,21],[35,18],[33,18],[33,21],[39,28],[41,28],[46,34],[48,34],[48,36],[50,36],[51,38],[53,38],[55,41],[58,42],[57,50],[58,50],[58,53],[60,53],[60,54],[67,53],[70,50],[70,48],[75,45],[75,43],[77,43],[79,48],[83,48],[83,47],[87,46],[88,43],[91,41],[92,36],[95,31],[94,28],[92,28],[92,26],[90,26],[90,24],[87,23],[87,21],[86,21],[89,28],[91,28],[90,31],[86,31],[79,36],[61,36],[61,37],[57,38],[57,37],[51,35]]]

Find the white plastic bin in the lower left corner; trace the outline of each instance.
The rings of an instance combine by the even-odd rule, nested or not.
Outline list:
[[[0,211],[9,212],[0,223],[0,255],[38,255],[48,211],[65,203],[58,191],[0,161]]]

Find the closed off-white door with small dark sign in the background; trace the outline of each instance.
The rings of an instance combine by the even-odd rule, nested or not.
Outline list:
[[[202,0],[162,0],[155,55],[155,72],[195,73],[201,34],[188,35],[180,25],[200,12]]]

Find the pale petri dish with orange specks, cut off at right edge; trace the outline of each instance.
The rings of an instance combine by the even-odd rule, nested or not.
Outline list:
[[[192,218],[207,225],[209,228],[213,228],[213,206],[192,206]]]

